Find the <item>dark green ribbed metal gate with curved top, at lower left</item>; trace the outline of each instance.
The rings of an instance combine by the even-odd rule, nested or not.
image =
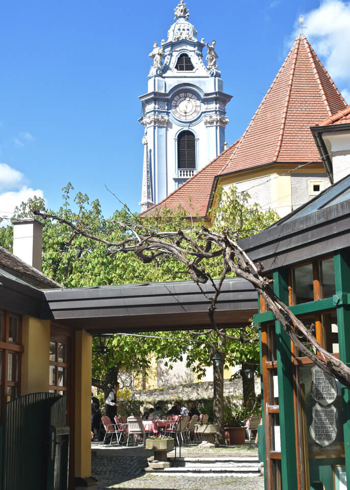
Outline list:
[[[0,426],[0,456],[0,489],[66,490],[65,397],[33,393],[7,403]]]

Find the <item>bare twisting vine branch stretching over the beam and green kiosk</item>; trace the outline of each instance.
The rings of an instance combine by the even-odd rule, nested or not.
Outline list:
[[[190,278],[197,283],[203,295],[211,302],[209,317],[212,331],[215,331],[222,339],[226,337],[246,341],[247,339],[244,339],[244,337],[227,336],[223,329],[217,328],[214,320],[216,303],[223,280],[227,273],[232,271],[236,276],[242,277],[253,284],[257,292],[265,300],[267,308],[273,313],[276,320],[281,323],[282,328],[299,352],[309,357],[324,372],[331,374],[344,386],[350,388],[350,368],[318,344],[311,331],[298,320],[290,308],[272,291],[270,287],[272,280],[262,276],[262,264],[253,263],[244,250],[239,247],[238,243],[229,237],[226,231],[215,233],[203,227],[202,230],[189,230],[188,232],[184,230],[160,232],[150,230],[142,226],[142,224],[116,222],[117,226],[128,230],[129,236],[119,242],[111,242],[88,233],[67,219],[45,214],[35,209],[32,212],[44,219],[57,219],[58,222],[68,225],[73,230],[73,234],[82,235],[105,244],[110,254],[133,252],[145,263],[152,262],[161,256],[178,260],[187,267]],[[223,258],[223,268],[219,281],[215,282],[206,271],[204,261],[220,256]],[[213,296],[209,296],[201,286],[208,281],[214,288]],[[319,355],[311,352],[300,340],[299,335],[304,337],[314,351],[319,352]]]

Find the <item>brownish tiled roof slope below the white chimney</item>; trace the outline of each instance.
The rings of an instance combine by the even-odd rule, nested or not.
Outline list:
[[[26,262],[23,262],[3,247],[0,247],[0,269],[5,269],[13,276],[39,288],[62,287],[61,284],[45,276],[35,267],[26,264]]]

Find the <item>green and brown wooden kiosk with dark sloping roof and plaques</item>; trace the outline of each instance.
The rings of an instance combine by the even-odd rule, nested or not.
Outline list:
[[[350,177],[240,241],[320,345],[350,365]],[[299,356],[259,301],[266,490],[350,488],[349,390]]]

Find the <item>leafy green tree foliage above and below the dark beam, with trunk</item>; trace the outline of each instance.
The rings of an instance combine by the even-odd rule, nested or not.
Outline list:
[[[190,227],[192,231],[189,233],[192,233],[195,238],[195,231],[203,226],[201,219],[197,216],[191,218],[190,212],[179,208],[175,212],[161,210],[141,221],[137,213],[132,214],[125,206],[120,211],[116,211],[111,218],[105,218],[98,200],[90,204],[88,196],[80,192],[74,198],[76,210],[73,211],[70,206],[72,189],[70,183],[63,189],[63,206],[58,213],[46,211],[44,203],[40,200],[30,201],[16,210],[16,217],[28,215],[30,209],[34,208],[61,218],[59,223],[49,219],[44,220],[42,266],[45,274],[63,285],[73,287],[183,280],[188,277],[189,268],[176,257],[160,255],[155,260],[155,266],[149,267],[135,254],[109,253],[106,243],[128,239],[132,233],[131,228],[141,223],[144,229],[151,232],[167,232]],[[257,204],[249,205],[248,193],[238,193],[234,187],[228,192],[219,189],[217,198],[220,206],[211,210],[214,223],[212,229],[217,233],[224,229],[235,240],[261,231],[278,217],[273,211],[262,212]],[[85,235],[72,233],[69,223],[84,229]],[[99,237],[99,241],[93,238],[95,236]],[[222,268],[222,256],[217,255],[207,261],[206,274],[209,274],[212,279],[220,277],[223,279],[225,276],[233,275],[228,270],[223,274]],[[188,367],[191,367],[200,378],[204,374],[204,367],[210,366],[212,357],[218,354],[222,363],[220,369],[213,365],[214,414],[222,426],[224,366],[256,362],[259,354],[257,332],[254,327],[247,326],[238,334],[233,329],[217,329],[214,312],[215,304],[211,308],[213,328],[209,332],[206,330],[159,333],[160,340],[147,341],[144,351],[141,349],[144,341],[140,340],[139,352],[143,362],[139,362],[138,365],[147,367],[149,361],[147,352],[152,350],[157,359],[167,357],[170,361],[180,359],[187,353]],[[133,341],[134,339],[118,337],[113,341],[113,347],[106,355],[95,359],[93,365],[95,384],[106,385],[113,378],[115,379],[120,369],[127,370],[132,367],[130,363],[122,363],[125,358],[117,354],[115,346],[118,346],[121,353],[123,350],[130,352]],[[244,392],[248,393],[246,389]]]

